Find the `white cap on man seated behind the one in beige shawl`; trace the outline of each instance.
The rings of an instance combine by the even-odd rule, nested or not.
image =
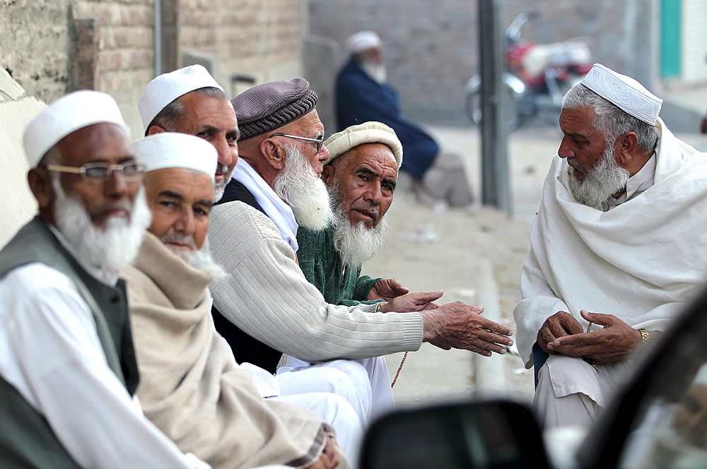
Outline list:
[[[177,97],[186,95],[199,88],[209,87],[218,88],[223,91],[223,88],[216,83],[211,73],[201,65],[189,65],[183,69],[163,73],[153,78],[153,80],[147,84],[140,96],[140,100],[137,102],[142,124],[147,129],[152,119],[154,119],[162,109],[167,107],[170,102],[176,100]]]

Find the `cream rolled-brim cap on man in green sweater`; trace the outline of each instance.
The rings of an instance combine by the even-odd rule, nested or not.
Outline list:
[[[327,165],[351,148],[363,145],[363,143],[382,143],[388,146],[393,152],[398,168],[402,165],[402,143],[393,129],[380,122],[364,122],[346,127],[343,131],[334,133],[327,138],[324,146],[329,150],[329,160],[326,160],[324,164]]]

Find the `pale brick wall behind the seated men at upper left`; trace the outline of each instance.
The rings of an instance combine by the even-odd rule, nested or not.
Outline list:
[[[161,0],[177,25],[170,71],[182,52],[209,54],[228,93],[232,73],[270,81],[301,75],[306,0]],[[0,1],[0,66],[28,95],[50,102],[76,88],[117,100],[134,136],[137,100],[156,74],[154,0]]]

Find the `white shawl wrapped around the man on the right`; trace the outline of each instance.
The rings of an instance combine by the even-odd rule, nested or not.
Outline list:
[[[555,156],[530,229],[530,253],[513,310],[516,340],[532,366],[537,331],[552,314],[614,314],[634,328],[662,331],[707,273],[707,155],[658,119],[655,181],[602,212],[574,201],[568,165]]]

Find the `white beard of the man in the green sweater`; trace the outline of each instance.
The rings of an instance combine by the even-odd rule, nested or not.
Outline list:
[[[363,225],[363,222],[352,227],[341,206],[339,185],[336,182],[329,188],[329,197],[332,199],[332,213],[334,214],[334,249],[341,256],[344,266],[361,267],[364,262],[373,258],[378,249],[385,244],[387,222],[380,220],[378,225],[370,230]]]

